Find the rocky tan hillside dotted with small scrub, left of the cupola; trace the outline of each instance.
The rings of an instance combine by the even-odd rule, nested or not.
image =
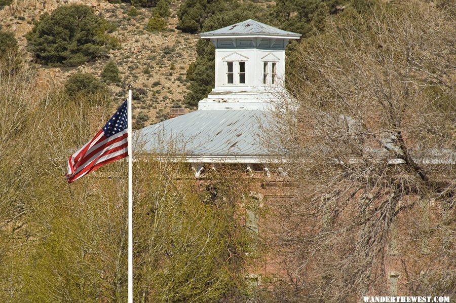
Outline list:
[[[109,51],[106,57],[79,67],[41,67],[40,78],[44,83],[62,84],[77,71],[99,76],[103,66],[114,60],[121,71],[122,82],[110,88],[122,99],[127,96],[126,85],[133,85],[136,89],[133,115],[137,117],[142,113],[144,125],[165,120],[171,107],[183,107],[183,96],[187,92],[185,74],[188,65],[196,58],[199,37],[175,29],[180,0],[171,4],[168,28],[160,33],[145,30],[152,14],[150,8],[138,7],[137,16],[131,17],[127,14],[129,4],[110,4],[104,0],[13,0],[10,6],[0,10],[0,23],[4,30],[14,32],[20,50],[27,52],[25,34],[31,30],[33,22],[43,13],[65,4],[88,5],[98,15],[116,24],[117,30],[111,35],[119,39],[121,46]],[[28,56],[32,60],[31,54]]]

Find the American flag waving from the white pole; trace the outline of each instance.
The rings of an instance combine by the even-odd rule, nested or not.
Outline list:
[[[66,173],[68,183],[128,156],[127,106],[125,100],[95,137],[69,157]]]

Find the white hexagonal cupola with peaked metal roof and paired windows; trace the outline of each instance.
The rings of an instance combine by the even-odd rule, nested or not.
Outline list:
[[[215,87],[198,109],[263,109],[284,90],[285,47],[301,35],[249,19],[200,36],[215,46]]]

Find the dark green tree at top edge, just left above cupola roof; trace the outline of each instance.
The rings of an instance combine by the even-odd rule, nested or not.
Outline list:
[[[234,2],[233,0],[185,0],[177,13],[179,18],[177,28],[183,32],[199,32],[207,18],[228,11],[228,7]]]

